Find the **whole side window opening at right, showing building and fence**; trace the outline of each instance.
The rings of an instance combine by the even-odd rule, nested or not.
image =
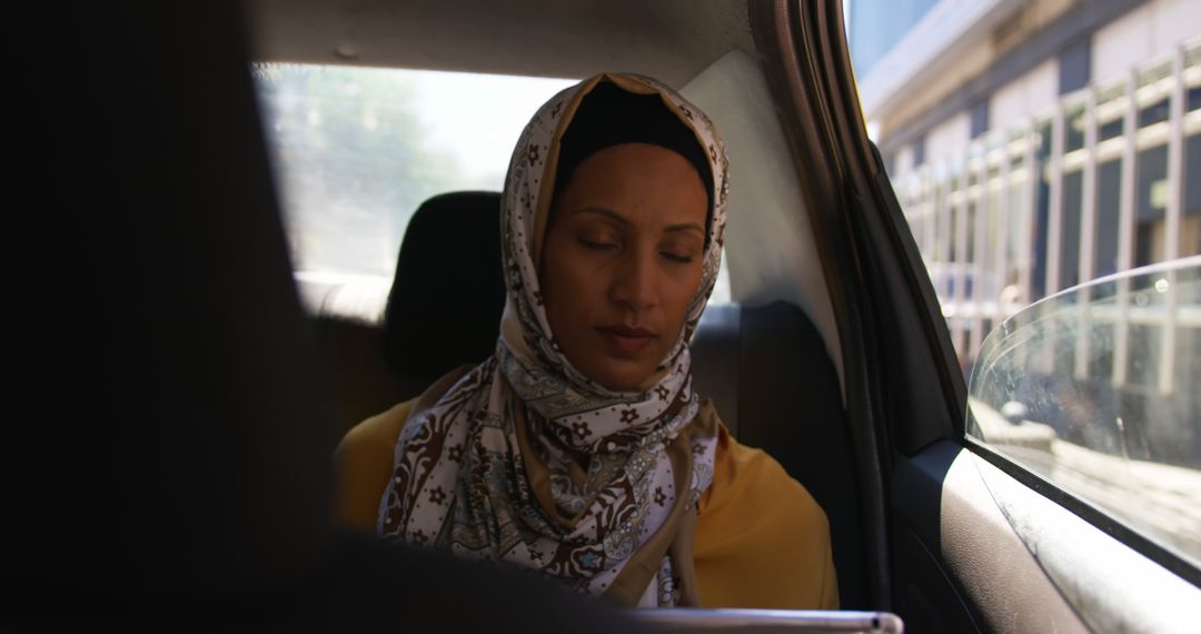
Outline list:
[[[1201,566],[1201,2],[843,6],[968,444]]]

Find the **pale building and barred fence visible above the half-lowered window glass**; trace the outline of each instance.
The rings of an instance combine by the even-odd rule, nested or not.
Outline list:
[[[891,5],[850,0],[853,56]],[[1201,253],[1199,36],[1201,0],[940,0],[856,66],[966,367],[1023,306]]]

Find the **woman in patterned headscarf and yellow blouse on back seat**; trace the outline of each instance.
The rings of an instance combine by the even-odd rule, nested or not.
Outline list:
[[[347,433],[339,520],[627,605],[837,608],[821,509],[692,390],[725,197],[663,84],[551,98],[504,185],[496,353]]]

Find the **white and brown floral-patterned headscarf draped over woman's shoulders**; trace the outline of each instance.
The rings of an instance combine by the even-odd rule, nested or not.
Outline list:
[[[658,95],[695,134],[712,184],[700,288],[671,352],[638,393],[609,390],[572,366],[551,336],[538,282],[560,142],[602,83]],[[697,500],[712,479],[717,417],[692,389],[687,342],[717,279],[725,196],[721,138],[659,82],[602,73],[546,102],[521,133],[504,183],[507,304],[496,353],[412,408],[380,533],[533,568],[627,605],[697,605],[692,537]]]

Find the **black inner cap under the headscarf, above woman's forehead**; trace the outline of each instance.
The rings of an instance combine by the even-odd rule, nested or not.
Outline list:
[[[709,208],[705,214],[705,241],[713,217],[713,174],[709,155],[688,128],[663,103],[659,95],[637,95],[613,82],[600,82],[584,96],[558,149],[554,199],[572,181],[575,168],[587,157],[623,143],[650,143],[683,156],[705,185]]]

